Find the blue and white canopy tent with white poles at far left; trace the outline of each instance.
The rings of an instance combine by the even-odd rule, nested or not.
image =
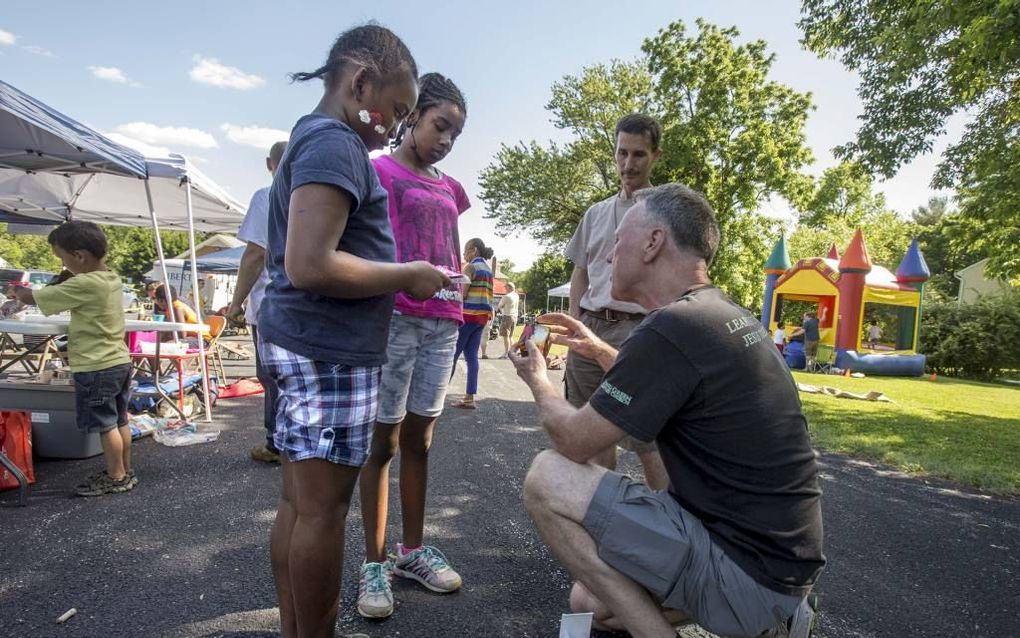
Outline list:
[[[160,225],[187,230],[189,247],[194,251],[196,228],[236,232],[245,213],[243,206],[184,157],[144,158],[0,82],[2,211],[16,219],[52,224],[72,218],[116,226],[151,224],[163,281],[169,278]],[[194,261],[192,271],[193,293],[198,299]],[[201,308],[195,310],[201,324]],[[172,309],[170,312],[173,320]],[[208,422],[208,366],[203,340],[198,342]]]

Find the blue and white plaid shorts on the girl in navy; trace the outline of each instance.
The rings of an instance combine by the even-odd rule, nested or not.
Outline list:
[[[273,443],[292,461],[321,458],[360,468],[378,410],[380,367],[314,361],[259,339],[276,386]]]

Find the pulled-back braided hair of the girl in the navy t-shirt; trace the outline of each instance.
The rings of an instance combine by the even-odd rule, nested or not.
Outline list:
[[[291,73],[291,81],[321,78],[327,88],[333,88],[348,64],[363,66],[372,80],[385,81],[404,70],[418,77],[418,65],[407,45],[386,27],[369,22],[340,34],[325,64],[310,72]]]

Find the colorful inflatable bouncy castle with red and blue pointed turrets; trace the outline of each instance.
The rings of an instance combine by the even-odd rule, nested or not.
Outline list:
[[[782,321],[784,304],[801,302],[797,307],[817,312],[819,351],[831,348],[836,367],[868,375],[924,374],[917,337],[924,282],[930,273],[917,240],[892,274],[871,262],[860,229],[843,256],[832,246],[825,257],[793,265],[785,239],[780,238],[765,262],[765,274],[761,320],[770,332]],[[867,339],[865,317],[875,315],[885,325],[881,341]],[[790,357],[787,362],[796,366]]]

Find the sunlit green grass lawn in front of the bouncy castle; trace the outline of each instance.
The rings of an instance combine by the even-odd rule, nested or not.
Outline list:
[[[801,393],[816,446],[997,492],[1020,493],[1020,388],[794,373],[800,383],[877,390],[896,403]]]

